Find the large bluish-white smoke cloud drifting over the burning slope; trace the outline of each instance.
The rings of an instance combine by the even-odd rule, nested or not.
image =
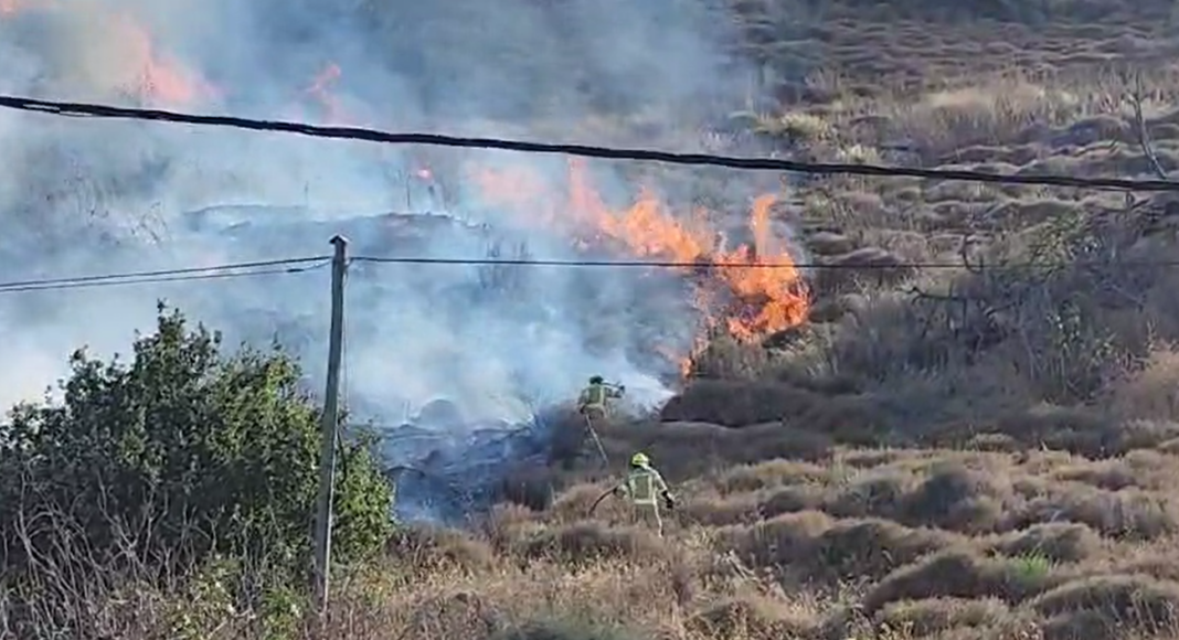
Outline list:
[[[685,132],[698,117],[732,108],[743,91],[718,12],[704,0],[8,0],[0,91],[685,150],[696,149]],[[661,128],[610,134],[638,125]],[[354,255],[586,255],[571,242],[585,231],[575,220],[527,199],[507,206],[474,179],[518,171],[562,194],[560,158],[0,112],[0,166],[7,281],[328,253],[337,231]],[[621,170],[590,170],[615,206],[634,196]],[[432,213],[374,217],[407,210]],[[277,334],[318,389],[328,282],[318,269],[0,296],[0,402],[39,397],[79,345],[125,352],[158,298],[230,341]],[[685,354],[697,330],[690,303],[670,272],[356,263],[345,352],[354,417],[395,423],[444,397],[468,420],[514,421],[529,404],[572,397],[593,374],[658,402],[676,374],[660,354]]]

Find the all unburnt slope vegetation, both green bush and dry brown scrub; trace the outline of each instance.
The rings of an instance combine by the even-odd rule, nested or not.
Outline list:
[[[1172,8],[738,2],[738,45],[775,100],[751,101],[732,118],[749,130],[710,144],[1167,174]],[[702,197],[733,191],[718,172],[693,176]],[[1174,259],[1173,198],[848,177],[784,190],[778,215],[809,258],[842,266],[812,273],[811,322],[764,344],[714,341],[659,421],[602,434],[612,460],[643,449],[674,482],[666,539],[617,503],[587,520],[600,473],[535,469],[482,530],[387,535],[387,489],[357,447],[341,466],[336,598],[312,623],[299,572],[316,409],[281,355],[224,357],[164,316],[130,365],[79,358],[65,409],[18,410],[0,460],[0,628],[1179,635],[1179,271],[1127,264]],[[950,266],[905,266],[933,262]]]

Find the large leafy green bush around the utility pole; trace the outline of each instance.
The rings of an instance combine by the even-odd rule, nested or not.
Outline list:
[[[0,430],[0,574],[35,579],[85,557],[176,576],[216,556],[303,578],[321,413],[296,362],[277,345],[223,355],[219,334],[190,330],[162,304],[130,363],[79,350],[70,364],[60,403],[18,405]],[[342,563],[380,549],[391,526],[370,438],[347,440],[332,545]]]

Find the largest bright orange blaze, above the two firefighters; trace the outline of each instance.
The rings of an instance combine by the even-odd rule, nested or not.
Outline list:
[[[582,244],[620,245],[628,253],[681,264],[679,269],[703,277],[693,305],[704,314],[704,331],[727,331],[752,342],[806,321],[810,296],[789,251],[777,246],[770,229],[772,194],[756,198],[749,226],[752,245],[726,250],[718,245],[709,212],[676,216],[651,190],[641,190],[626,209],[613,209],[593,187],[581,160],[569,161],[569,189],[554,197],[546,182],[528,172],[479,170],[474,182],[483,198],[509,211],[532,217],[532,223],[556,225],[565,231],[588,232]],[[539,219],[538,219],[539,218]],[[697,341],[689,356],[679,354],[684,372],[705,345]]]

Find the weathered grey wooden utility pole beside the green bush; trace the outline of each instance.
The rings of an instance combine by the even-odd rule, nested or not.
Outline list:
[[[340,365],[344,344],[344,271],[348,239],[334,236],[331,259],[331,329],[328,341],[328,384],[323,394],[323,438],[320,453],[320,500],[315,517],[315,602],[320,613],[328,608],[328,576],[331,573],[331,509],[335,499],[336,430],[340,427]]]

